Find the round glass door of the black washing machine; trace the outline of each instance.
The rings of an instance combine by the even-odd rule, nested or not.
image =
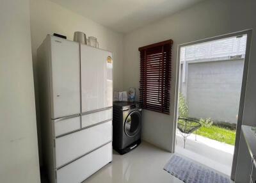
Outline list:
[[[138,111],[132,111],[125,119],[124,131],[129,137],[135,136],[140,132],[141,114]]]

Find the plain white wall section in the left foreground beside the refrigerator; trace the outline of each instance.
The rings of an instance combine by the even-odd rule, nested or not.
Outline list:
[[[0,182],[40,182],[29,0],[2,0],[0,24]]]

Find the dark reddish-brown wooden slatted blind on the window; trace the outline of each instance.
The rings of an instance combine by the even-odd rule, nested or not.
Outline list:
[[[144,109],[169,114],[172,40],[140,47],[140,102]]]

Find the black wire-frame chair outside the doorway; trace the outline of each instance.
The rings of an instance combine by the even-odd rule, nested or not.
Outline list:
[[[185,148],[186,139],[188,138],[188,136],[191,133],[195,132],[200,127],[202,127],[201,123],[196,120],[192,120],[188,118],[178,118],[177,128],[179,129],[180,134],[183,137],[184,148]]]

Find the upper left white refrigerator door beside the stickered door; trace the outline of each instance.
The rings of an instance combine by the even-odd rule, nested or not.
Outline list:
[[[81,111],[79,44],[49,36],[51,76],[51,118]]]

